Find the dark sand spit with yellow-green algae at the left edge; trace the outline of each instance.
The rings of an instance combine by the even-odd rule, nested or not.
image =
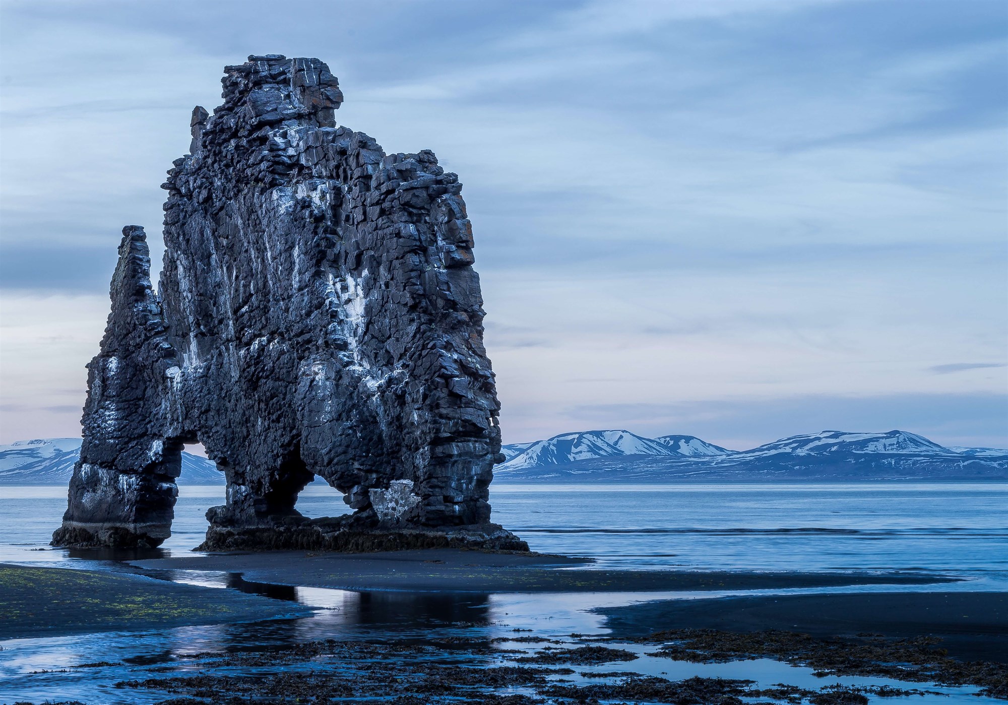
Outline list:
[[[0,563],[0,641],[310,613],[298,604],[234,590],[105,571]]]

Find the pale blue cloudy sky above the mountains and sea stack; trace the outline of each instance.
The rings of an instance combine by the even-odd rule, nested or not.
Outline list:
[[[226,63],[466,184],[506,441],[1008,447],[1001,2],[0,3],[0,442],[76,435],[123,225]]]

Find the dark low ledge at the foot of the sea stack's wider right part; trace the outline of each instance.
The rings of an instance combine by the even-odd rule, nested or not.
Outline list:
[[[298,518],[299,519],[299,518]],[[197,551],[336,551],[369,553],[422,548],[528,551],[528,544],[499,524],[440,528],[362,528],[342,518],[324,517],[270,527],[219,527],[207,530]]]

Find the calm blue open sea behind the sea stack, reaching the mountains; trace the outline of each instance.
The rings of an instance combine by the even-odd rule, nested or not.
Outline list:
[[[202,540],[221,486],[182,486],[172,536]],[[494,521],[536,551],[590,556],[611,567],[696,570],[928,570],[1008,587],[1008,484],[498,485]],[[0,486],[0,560],[61,562],[46,549],[66,509],[64,487]],[[347,511],[310,484],[297,509]],[[949,589],[946,585],[941,589]]]

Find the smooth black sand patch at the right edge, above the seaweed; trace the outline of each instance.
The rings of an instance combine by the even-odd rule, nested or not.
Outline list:
[[[1008,663],[1008,593],[875,592],[656,600],[594,610],[615,637],[767,629],[813,637],[937,637],[951,656]]]

